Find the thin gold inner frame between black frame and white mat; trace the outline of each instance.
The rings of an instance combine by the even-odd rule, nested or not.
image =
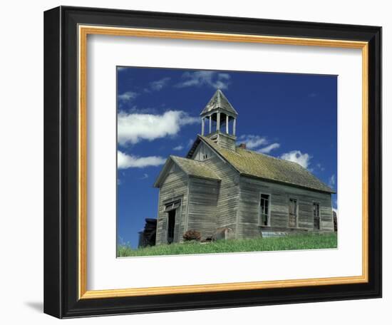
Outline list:
[[[268,43],[297,46],[359,48],[362,50],[362,275],[315,279],[288,279],[264,282],[196,284],[175,287],[87,290],[87,36],[139,36],[149,38],[182,38],[204,41]],[[107,26],[78,26],[78,295],[79,299],[222,292],[244,289],[357,284],[368,282],[368,42],[316,38],[205,33],[158,29],[131,29]]]

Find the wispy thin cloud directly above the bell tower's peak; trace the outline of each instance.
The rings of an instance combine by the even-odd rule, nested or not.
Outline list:
[[[175,85],[177,88],[210,86],[215,89],[229,88],[230,75],[228,73],[217,73],[215,71],[185,72],[183,81]]]

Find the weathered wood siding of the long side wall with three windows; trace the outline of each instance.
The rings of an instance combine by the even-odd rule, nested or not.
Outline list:
[[[270,195],[270,227],[259,227],[260,194]],[[289,198],[298,203],[297,227],[289,229]],[[266,231],[314,231],[313,202],[320,205],[320,231],[334,231],[331,195],[299,187],[240,177],[237,238],[257,237]]]

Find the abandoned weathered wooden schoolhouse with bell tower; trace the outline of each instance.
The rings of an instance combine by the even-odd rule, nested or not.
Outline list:
[[[202,239],[222,229],[235,239],[334,231],[334,191],[296,162],[236,145],[237,116],[216,91],[187,156],[167,159],[154,184],[156,244],[181,242],[187,230]]]

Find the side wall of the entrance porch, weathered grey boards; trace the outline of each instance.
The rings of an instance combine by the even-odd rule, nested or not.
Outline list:
[[[220,182],[190,177],[187,230],[201,232],[202,239],[217,229],[217,198]]]

